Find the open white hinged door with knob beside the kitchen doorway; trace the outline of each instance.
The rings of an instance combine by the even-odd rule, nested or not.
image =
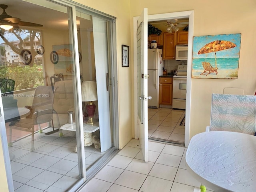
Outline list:
[[[144,8],[137,22],[138,46],[138,127],[140,146],[148,161],[148,9]]]

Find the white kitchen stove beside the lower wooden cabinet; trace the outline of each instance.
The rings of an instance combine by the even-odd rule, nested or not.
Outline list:
[[[178,65],[177,75],[173,76],[173,109],[186,109],[187,67],[187,65]]]

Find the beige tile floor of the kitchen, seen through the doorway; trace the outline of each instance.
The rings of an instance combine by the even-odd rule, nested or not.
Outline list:
[[[184,110],[148,108],[148,136],[184,144],[185,126],[180,126]]]

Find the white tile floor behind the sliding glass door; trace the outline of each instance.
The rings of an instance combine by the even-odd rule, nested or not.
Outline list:
[[[48,131],[52,128],[45,129],[44,133]],[[59,132],[44,133],[35,134],[33,151],[30,151],[31,136],[9,146],[15,192],[65,192],[79,179],[74,132],[63,131],[63,137],[58,135]],[[86,169],[104,154],[93,145],[84,150]]]

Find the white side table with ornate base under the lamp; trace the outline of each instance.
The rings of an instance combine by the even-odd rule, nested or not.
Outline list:
[[[88,125],[86,122],[84,122],[84,146],[91,146],[94,144],[94,147],[96,149],[100,148],[100,140],[96,135],[92,135],[93,132],[98,130],[99,123],[96,122],[94,125]],[[62,125],[60,128],[60,136],[62,136],[61,130],[67,130],[67,131],[76,131],[76,123],[74,122],[73,124],[65,124]],[[75,152],[77,152],[77,146],[75,147]]]

